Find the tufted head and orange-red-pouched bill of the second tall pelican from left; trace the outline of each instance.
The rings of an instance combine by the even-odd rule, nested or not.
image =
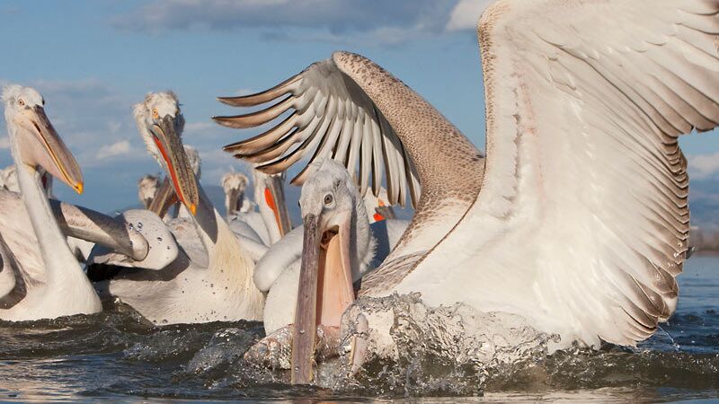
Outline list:
[[[133,108],[147,151],[172,180],[180,202],[195,214],[200,203],[197,179],[182,146],[185,120],[173,92],[151,92]]]

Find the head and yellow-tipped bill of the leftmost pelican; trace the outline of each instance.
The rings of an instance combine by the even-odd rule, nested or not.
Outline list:
[[[30,87],[8,85],[3,89],[5,121],[18,161],[33,171],[41,167],[83,193],[83,174],[55,127],[45,115],[45,100]]]

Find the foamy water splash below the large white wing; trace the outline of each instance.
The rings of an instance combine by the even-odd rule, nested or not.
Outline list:
[[[368,329],[358,329],[359,317]],[[366,338],[362,370],[348,379],[350,349],[337,363],[320,366],[317,384],[352,386],[378,395],[477,395],[488,377],[547,354],[555,337],[521,317],[479,312],[466,304],[430,307],[419,294],[361,298],[343,317],[344,341]]]

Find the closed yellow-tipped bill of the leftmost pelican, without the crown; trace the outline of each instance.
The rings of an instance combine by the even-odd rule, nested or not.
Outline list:
[[[40,165],[52,176],[75,189],[75,192],[82,194],[84,186],[80,166],[58,136],[55,127],[52,127],[45,110],[40,106],[22,110],[17,123],[31,135],[19,136],[22,139],[22,145],[19,145],[22,161]]]

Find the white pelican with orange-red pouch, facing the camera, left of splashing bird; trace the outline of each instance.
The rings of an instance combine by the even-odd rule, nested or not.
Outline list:
[[[171,179],[190,217],[170,225],[180,246],[177,259],[161,270],[123,269],[109,280],[107,292],[158,325],[261,320],[264,296],[253,284],[253,259],[192,171],[182,147],[177,96],[147,94],[133,113],[149,154]]]

